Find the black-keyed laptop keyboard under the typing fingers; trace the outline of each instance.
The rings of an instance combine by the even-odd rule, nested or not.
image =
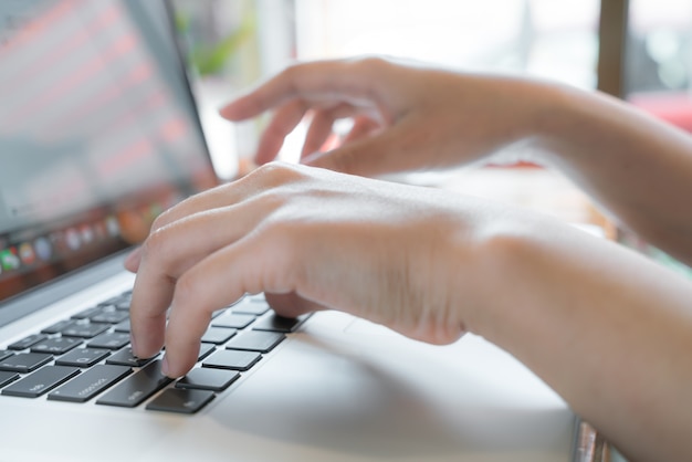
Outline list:
[[[191,414],[308,317],[277,316],[262,295],[247,296],[214,313],[197,366],[172,380],[161,375],[160,353],[133,356],[130,296],[127,291],[0,349],[0,395]]]

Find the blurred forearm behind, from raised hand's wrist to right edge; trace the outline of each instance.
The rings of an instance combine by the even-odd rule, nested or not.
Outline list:
[[[546,99],[548,161],[619,224],[692,264],[692,138],[601,94],[555,87]]]

